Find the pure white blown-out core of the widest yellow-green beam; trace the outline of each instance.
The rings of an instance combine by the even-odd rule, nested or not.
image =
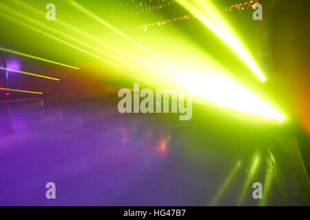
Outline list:
[[[265,118],[280,121],[285,119],[276,109],[233,78],[225,78],[218,74],[204,74],[198,78],[187,75],[183,81],[201,100]]]

